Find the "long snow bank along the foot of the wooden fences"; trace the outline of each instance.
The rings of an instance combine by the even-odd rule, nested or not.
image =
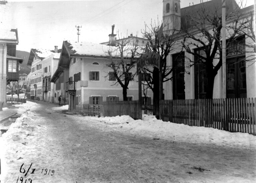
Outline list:
[[[158,120],[155,116],[143,115],[143,120],[134,120],[130,116],[92,117],[93,120],[129,133],[140,134],[150,138],[187,143],[211,143],[224,146],[256,146],[256,136],[248,133],[231,133],[214,128],[188,126]],[[113,126],[114,124],[114,126]]]

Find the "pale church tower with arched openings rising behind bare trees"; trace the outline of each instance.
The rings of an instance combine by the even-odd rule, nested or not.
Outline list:
[[[180,30],[180,0],[163,0],[163,33],[172,35]]]

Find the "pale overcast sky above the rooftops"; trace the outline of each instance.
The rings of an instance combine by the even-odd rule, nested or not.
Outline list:
[[[162,21],[163,0],[84,0],[84,1],[20,1],[8,0],[0,5],[0,28],[17,28],[17,50],[61,48],[64,40],[101,43],[109,40],[111,26],[121,37],[127,33],[141,37],[144,22]],[[207,1],[207,0],[204,0]],[[181,0],[181,8],[200,0]],[[253,5],[248,0],[247,5]]]

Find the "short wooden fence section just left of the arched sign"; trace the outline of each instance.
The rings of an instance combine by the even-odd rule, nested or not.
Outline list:
[[[104,116],[129,115],[139,119],[139,101],[107,101],[103,102]]]

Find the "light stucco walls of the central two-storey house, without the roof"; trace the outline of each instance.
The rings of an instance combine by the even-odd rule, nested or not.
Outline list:
[[[81,81],[87,81],[88,87],[80,87],[80,81],[76,83],[76,96],[81,96],[82,104],[89,103],[90,96],[103,96],[103,101],[106,101],[108,96],[117,96],[119,100],[123,100],[122,87],[119,84],[115,84],[113,81],[108,81],[107,74],[111,72],[111,68],[106,67],[106,59],[103,58],[80,58],[76,59],[75,64],[70,62],[69,77],[74,77],[74,74],[81,72]],[[97,62],[99,65],[92,65]],[[89,78],[89,72],[99,71],[99,81],[91,81]],[[135,74],[136,69],[132,69],[131,72]],[[74,78],[73,78],[74,80]],[[135,75],[134,81],[129,83],[129,90],[127,96],[132,96],[133,100],[138,100],[138,77]],[[113,86],[112,86],[113,85]],[[147,92],[147,96],[151,97],[151,103],[153,102],[153,93],[151,90]]]

